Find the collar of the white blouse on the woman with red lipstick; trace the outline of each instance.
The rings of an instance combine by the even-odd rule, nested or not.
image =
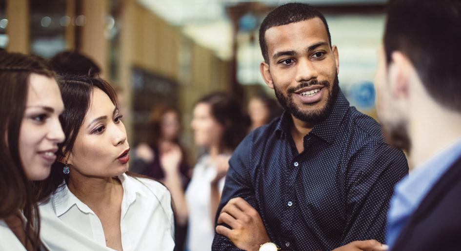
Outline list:
[[[137,193],[141,196],[148,195],[142,190],[140,182],[133,182],[128,175],[121,174],[118,176],[123,187],[122,209],[127,208],[136,200]],[[66,213],[74,205],[83,213],[94,213],[87,205],[80,201],[74,193],[70,192],[67,185],[63,182],[57,192],[53,194],[53,204],[56,209],[56,215],[59,217]]]

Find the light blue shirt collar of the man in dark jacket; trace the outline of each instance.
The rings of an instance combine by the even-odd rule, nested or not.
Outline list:
[[[441,176],[461,155],[461,139],[415,169],[395,186],[387,226],[387,245],[392,249],[402,228]]]

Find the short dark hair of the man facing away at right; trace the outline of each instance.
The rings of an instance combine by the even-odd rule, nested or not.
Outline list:
[[[384,49],[405,54],[441,105],[461,112],[461,1],[394,0],[389,4]]]

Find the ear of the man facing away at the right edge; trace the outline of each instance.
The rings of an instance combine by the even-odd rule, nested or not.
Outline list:
[[[409,86],[414,72],[414,66],[410,59],[399,51],[391,55],[391,62],[388,66],[388,76],[391,93],[395,97],[408,97]]]

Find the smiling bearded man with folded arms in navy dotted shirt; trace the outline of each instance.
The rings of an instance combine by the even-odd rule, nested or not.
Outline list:
[[[342,94],[325,18],[282,5],[262,22],[260,45],[261,75],[284,113],[232,155],[212,250],[385,250],[389,200],[408,164]]]

